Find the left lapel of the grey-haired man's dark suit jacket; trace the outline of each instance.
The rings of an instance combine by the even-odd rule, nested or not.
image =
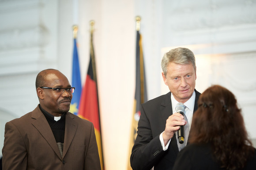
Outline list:
[[[163,119],[163,125],[165,129],[166,125],[166,120],[173,114],[173,109],[172,109],[172,101],[171,101],[171,92],[167,93],[161,103],[160,106],[161,110],[161,115]],[[172,147],[175,154],[177,155],[179,152],[178,146],[177,146],[177,141],[176,141],[176,136],[175,134],[173,135],[169,147]]]

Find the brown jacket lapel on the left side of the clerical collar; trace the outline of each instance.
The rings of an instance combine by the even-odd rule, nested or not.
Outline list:
[[[56,144],[55,137],[53,136],[53,132],[39,107],[34,109],[31,118],[33,119],[31,124],[39,131],[42,137],[45,138],[45,140],[51,146],[56,155],[59,156],[60,159],[62,159]]]

